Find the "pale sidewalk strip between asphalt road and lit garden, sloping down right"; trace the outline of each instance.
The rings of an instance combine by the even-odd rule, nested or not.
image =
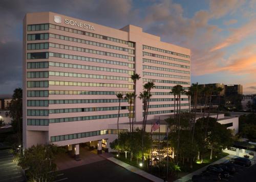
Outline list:
[[[111,161],[111,162],[113,162],[113,163],[115,163],[115,164],[117,164],[117,165],[119,165],[119,166],[121,166],[121,167],[123,167],[123,168],[125,168],[128,171],[131,171],[131,172],[136,173],[136,174],[138,174],[140,176],[143,176],[143,177],[145,177],[145,178],[147,178],[147,179],[149,179],[151,181],[163,181],[163,179],[161,179],[159,177],[156,177],[156,176],[154,176],[152,174],[149,174],[149,173],[147,173],[147,172],[145,172],[145,171],[143,171],[143,170],[141,170],[139,168],[136,168],[134,166],[126,164],[126,163],[124,163],[124,162],[122,162],[122,161],[120,161],[120,160],[118,160],[118,159],[116,159],[114,157],[108,157],[106,159]]]

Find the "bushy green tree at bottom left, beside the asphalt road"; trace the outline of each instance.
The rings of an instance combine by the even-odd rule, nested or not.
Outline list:
[[[29,181],[53,181],[56,177],[55,156],[62,150],[53,144],[37,144],[25,149],[18,166],[26,170]]]

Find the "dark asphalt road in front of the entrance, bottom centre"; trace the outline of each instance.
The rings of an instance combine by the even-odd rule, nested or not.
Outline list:
[[[58,172],[55,179],[57,181],[150,181],[138,174],[127,171],[126,169],[108,161],[103,160],[71,169]]]

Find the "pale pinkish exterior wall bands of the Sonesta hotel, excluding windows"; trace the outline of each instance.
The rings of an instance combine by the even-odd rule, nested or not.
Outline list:
[[[54,22],[54,16],[60,16],[62,19],[61,23]],[[77,22],[83,22],[83,24],[90,24],[94,26],[95,30],[89,30],[80,28],[77,26],[67,25],[65,24],[65,19],[68,18],[70,20],[74,20]],[[49,28],[49,30],[44,31],[28,31],[27,25],[37,25],[37,24],[52,24],[56,26],[62,26],[65,28],[76,29],[80,31],[85,31],[89,33],[94,33],[98,35],[118,38],[125,41],[130,41],[135,43],[135,48],[129,47],[127,44],[119,43],[111,40],[105,40],[102,38],[96,38],[87,36],[84,34],[77,34],[70,31],[62,31],[56,30],[53,28]],[[69,29],[68,29],[69,30]],[[80,38],[89,41],[95,41],[99,43],[105,43],[110,45],[116,45],[118,47],[131,49],[135,51],[135,54],[129,54],[128,52],[115,50],[115,49],[108,49],[103,47],[98,47],[91,44],[83,44],[74,41],[62,40],[57,38],[49,37],[48,40],[27,40],[28,34],[38,34],[38,33],[51,33],[51,34],[58,34],[63,36],[69,36],[74,38]],[[135,57],[135,61],[130,61],[124,58],[106,56],[106,55],[98,55],[92,54],[87,52],[78,52],[73,50],[66,50],[66,49],[59,49],[59,48],[52,48],[49,47],[47,50],[27,50],[28,43],[41,43],[41,42],[51,42],[51,43],[58,43],[69,45],[73,47],[79,47],[84,49],[91,49],[96,51],[104,51],[113,54],[121,54],[126,56]],[[94,24],[92,22],[84,21],[75,19],[72,17],[67,17],[65,15],[59,15],[52,12],[45,12],[45,13],[28,13],[24,18],[24,62],[23,62],[23,88],[24,88],[24,95],[23,95],[23,116],[24,116],[24,123],[23,123],[23,139],[24,139],[24,146],[30,147],[37,143],[46,143],[51,141],[51,137],[60,136],[60,135],[68,135],[74,133],[82,133],[82,132],[90,132],[90,131],[98,131],[98,130],[106,130],[106,129],[117,129],[111,128],[111,124],[117,123],[117,118],[110,118],[110,119],[97,119],[97,120],[87,120],[87,121],[72,121],[72,122],[60,122],[60,123],[50,123],[49,126],[38,126],[38,125],[28,125],[28,119],[58,119],[58,118],[71,118],[71,117],[85,117],[85,116],[98,116],[98,115],[114,115],[118,113],[118,110],[102,110],[102,111],[90,111],[90,112],[69,112],[69,113],[50,113],[49,116],[27,116],[27,109],[66,109],[66,108],[89,108],[89,107],[116,107],[118,103],[80,103],[80,104],[49,104],[47,107],[41,106],[27,106],[28,100],[67,100],[67,99],[117,99],[115,95],[49,95],[49,97],[27,97],[28,90],[86,90],[86,91],[111,91],[111,92],[133,92],[133,89],[129,88],[120,88],[120,87],[95,87],[95,86],[64,86],[64,85],[49,85],[49,87],[27,87],[27,81],[73,81],[73,82],[90,82],[90,83],[112,83],[112,84],[126,84],[126,85],[133,85],[132,82],[124,81],[124,80],[110,80],[110,79],[94,79],[94,78],[78,78],[78,77],[63,77],[63,76],[49,76],[49,78],[27,78],[27,72],[39,72],[39,71],[52,71],[52,72],[69,72],[69,73],[77,73],[77,74],[94,74],[94,75],[104,75],[104,76],[119,76],[119,77],[126,77],[130,78],[131,75],[126,73],[117,73],[117,72],[105,72],[105,71],[97,71],[97,70],[82,70],[82,69],[75,69],[70,67],[56,67],[56,66],[49,66],[45,69],[28,69],[27,62],[41,62],[41,61],[52,61],[52,62],[59,62],[59,63],[72,63],[72,64],[80,64],[86,66],[98,66],[98,67],[108,67],[111,69],[122,69],[133,71],[140,75],[141,79],[136,84],[136,94],[139,95],[143,89],[143,78],[145,79],[158,79],[158,80],[166,80],[166,81],[183,81],[187,82],[187,84],[181,84],[184,87],[190,86],[190,62],[184,63],[177,60],[169,60],[164,58],[158,58],[155,56],[143,56],[143,51],[147,53],[168,56],[175,59],[182,59],[186,61],[190,61],[190,58],[182,57],[179,55],[163,53],[159,51],[153,51],[149,49],[144,49],[142,45],[151,46],[154,48],[159,48],[163,50],[168,50],[184,55],[190,56],[190,50],[186,48],[179,47],[177,45],[169,44],[166,42],[160,41],[160,37],[144,33],[142,28],[136,26],[126,26],[120,30],[113,29],[101,25]],[[98,63],[98,62],[90,62],[90,61],[81,61],[75,59],[66,59],[66,58],[57,58],[57,57],[49,57],[48,59],[27,59],[27,53],[38,53],[38,52],[53,52],[53,53],[60,53],[60,54],[69,54],[69,55],[77,55],[77,56],[84,56],[90,58],[98,58],[98,59],[106,59],[111,61],[119,61],[124,63],[134,63],[134,69],[129,66],[124,65],[116,65],[116,64],[106,64],[106,63]],[[166,63],[175,63],[179,65],[186,65],[189,68],[178,67],[173,65],[164,65],[164,64],[156,64],[156,63],[143,63],[143,58],[152,59],[155,61],[161,61]],[[187,71],[189,74],[185,73],[177,73],[177,72],[170,72],[170,71],[160,71],[160,70],[152,70],[152,69],[144,69],[143,65],[150,65],[155,67],[161,68],[168,68],[173,70],[180,70],[180,71]],[[186,76],[188,79],[181,79],[181,78],[170,78],[170,77],[161,77],[161,76],[147,76],[143,75],[143,72],[151,72],[157,74],[165,74],[165,75],[174,75],[174,76]],[[176,83],[161,83],[155,82],[157,86],[175,86]],[[170,89],[153,89],[152,92],[154,93],[169,93]],[[174,98],[172,95],[153,95],[153,99],[157,98]],[[186,96],[182,96],[182,98],[187,98]],[[188,101],[181,101],[181,103],[188,103]],[[163,105],[163,104],[174,104],[174,101],[159,101],[159,102],[151,102],[151,105]],[[127,102],[122,102],[121,106],[129,106]],[[136,98],[136,115],[135,121],[142,121],[142,102],[138,98]],[[149,111],[168,111],[169,114],[172,114],[173,107],[156,107],[150,108]],[[188,109],[188,106],[182,107],[182,109]],[[129,113],[129,110],[124,109],[120,110],[120,113]],[[159,115],[159,114],[158,114]],[[148,115],[148,120],[154,119],[155,115]],[[119,119],[120,123],[129,122],[128,117],[121,117]],[[58,142],[53,142],[57,145],[69,145],[69,144],[77,144],[83,143],[93,140],[100,140],[100,139],[110,139],[109,142],[116,138],[115,134],[104,134],[98,135],[94,137],[87,137],[87,138],[79,138],[79,139],[72,139],[72,140],[63,140]]]

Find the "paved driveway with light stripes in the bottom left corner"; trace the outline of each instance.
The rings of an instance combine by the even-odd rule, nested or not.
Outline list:
[[[13,162],[10,149],[0,150],[0,182],[25,181],[21,169]]]

